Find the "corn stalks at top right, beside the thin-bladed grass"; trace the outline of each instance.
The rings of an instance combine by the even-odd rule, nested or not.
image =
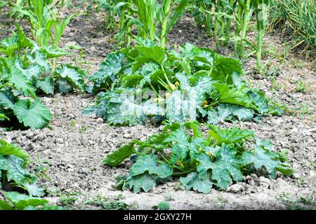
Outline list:
[[[234,52],[237,57],[244,57],[246,44],[252,44],[246,34],[249,22],[256,15],[258,29],[257,67],[261,67],[263,35],[268,24],[269,0],[225,0],[225,1],[192,1],[192,15],[195,16],[199,27],[206,27],[206,32],[216,38],[219,43],[227,45],[232,39]],[[232,25],[235,24],[235,34],[232,38]]]

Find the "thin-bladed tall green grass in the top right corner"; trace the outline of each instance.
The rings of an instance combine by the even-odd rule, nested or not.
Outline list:
[[[291,37],[291,48],[316,55],[316,1],[272,0],[271,25]]]

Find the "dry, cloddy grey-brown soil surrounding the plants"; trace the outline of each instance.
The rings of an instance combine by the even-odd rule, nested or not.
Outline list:
[[[184,18],[169,35],[169,44],[191,42],[213,47],[213,41],[191,22]],[[90,18],[81,15],[70,23],[62,38],[62,45],[77,44],[84,49],[84,61],[89,63],[84,67],[91,73],[98,69],[97,64],[102,62],[113,44],[113,34],[96,31],[101,25],[102,21],[93,15]],[[258,76],[250,72],[245,78],[296,113],[263,118],[262,123],[223,125],[254,130],[259,138],[271,139],[275,151],[288,149],[289,163],[295,169],[291,177],[278,176],[276,180],[270,180],[254,174],[244,177],[244,183],[234,184],[225,192],[213,189],[209,195],[185,191],[177,179],[157,186],[150,193],[115,190],[114,177],[127,174],[131,163],[126,161],[113,169],[100,161],[117,146],[132,139],[145,139],[159,132],[159,127],[110,127],[100,118],[84,116],[81,111],[93,103],[93,98],[81,94],[41,98],[53,113],[52,130],[0,131],[0,137],[27,150],[34,160],[32,169],[36,169],[41,160],[48,161],[43,165],[48,168],[46,175],[50,179],[42,178],[40,184],[51,192],[49,200],[58,202],[62,196],[63,204],[70,209],[101,209],[84,203],[96,199],[97,195],[107,197],[109,201],[124,201],[131,205],[131,209],[151,209],[162,201],[168,201],[171,209],[316,209],[316,132],[308,131],[316,127],[315,73],[308,69],[308,62],[293,55],[287,55],[284,62],[276,57],[282,55],[282,47],[279,47],[282,42],[275,34],[266,36],[265,43],[269,44],[266,48],[276,49],[267,57],[272,58],[269,63],[271,71],[275,71],[274,76],[269,73]],[[229,49],[221,52],[230,54]],[[79,58],[79,51],[75,51],[74,56]],[[73,61],[73,56],[62,59],[62,62]],[[254,59],[244,61],[245,70],[252,71],[254,64]],[[302,82],[307,86],[305,93],[298,92]]]

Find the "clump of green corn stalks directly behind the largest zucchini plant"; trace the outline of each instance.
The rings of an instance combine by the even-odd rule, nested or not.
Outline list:
[[[136,27],[138,38],[157,41],[164,46],[166,35],[185,13],[188,3],[188,0],[98,0],[96,10],[106,11],[105,25],[117,31],[117,45],[129,45],[131,31]]]

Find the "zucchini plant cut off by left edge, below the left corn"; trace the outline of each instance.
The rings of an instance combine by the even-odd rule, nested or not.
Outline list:
[[[4,127],[47,127],[52,116],[37,92],[53,94],[55,84],[61,92],[77,87],[84,92],[86,73],[69,64],[53,72],[51,58],[65,52],[39,48],[18,25],[17,33],[0,41],[0,123]],[[53,74],[52,74],[53,73]]]

